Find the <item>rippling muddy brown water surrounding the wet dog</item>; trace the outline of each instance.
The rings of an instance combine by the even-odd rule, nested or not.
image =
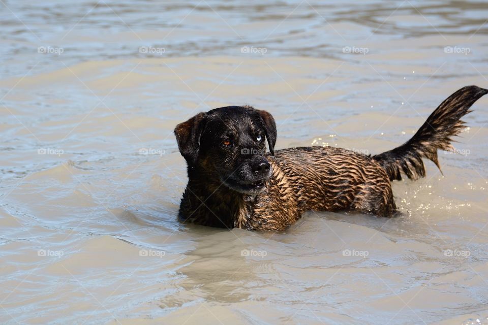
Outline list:
[[[391,219],[175,218],[174,125],[249,104],[277,148],[379,153],[488,87],[482,2],[0,4],[0,322],[442,323],[488,316],[488,98]],[[446,48],[447,47],[447,48]]]

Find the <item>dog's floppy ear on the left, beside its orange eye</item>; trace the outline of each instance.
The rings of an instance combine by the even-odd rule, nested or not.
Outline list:
[[[174,128],[174,135],[181,155],[189,165],[194,165],[200,151],[200,138],[205,129],[206,113],[198,113]]]

